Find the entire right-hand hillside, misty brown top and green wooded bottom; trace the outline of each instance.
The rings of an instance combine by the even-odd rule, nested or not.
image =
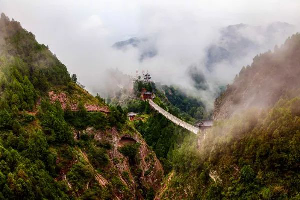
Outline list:
[[[213,128],[173,151],[156,199],[299,199],[299,49],[295,34],[241,70]]]

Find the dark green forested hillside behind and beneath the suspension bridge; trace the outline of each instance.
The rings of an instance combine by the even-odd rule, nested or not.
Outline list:
[[[141,116],[141,119],[134,121],[135,128],[152,147],[165,172],[169,172],[173,168],[172,152],[174,148],[182,144],[186,136],[193,133],[174,124],[155,110],[151,110],[149,103],[141,100],[142,88],[155,93],[153,100],[161,108],[191,124],[207,118],[210,114],[199,99],[187,96],[179,88],[167,85],[156,87],[154,82],[147,84],[143,81],[135,81],[132,94],[134,99],[128,100],[124,109],[127,109],[128,112],[139,113],[138,116]],[[117,98],[114,99],[114,102],[116,101]]]

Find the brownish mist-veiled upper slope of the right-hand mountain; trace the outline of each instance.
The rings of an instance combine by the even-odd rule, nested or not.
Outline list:
[[[288,38],[275,52],[257,55],[251,66],[242,68],[234,83],[215,101],[215,118],[252,106],[272,106],[288,91],[298,89],[300,75],[299,34]]]

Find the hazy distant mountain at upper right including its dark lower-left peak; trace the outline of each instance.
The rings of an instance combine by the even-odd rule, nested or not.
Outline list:
[[[230,82],[229,78],[241,69],[241,64],[249,63],[257,53],[273,49],[277,43],[283,43],[294,32],[295,26],[284,22],[263,26],[236,24],[221,28],[219,38],[205,48],[203,64],[188,66],[187,74],[197,90],[209,90],[208,85],[224,87]],[[219,71],[225,71],[226,75]],[[219,90],[214,88],[211,93],[217,97]]]

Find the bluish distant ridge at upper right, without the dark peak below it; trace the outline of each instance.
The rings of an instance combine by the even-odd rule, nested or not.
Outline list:
[[[292,34],[294,29],[293,25],[283,22],[266,26],[237,24],[222,28],[219,40],[207,48],[207,68],[212,70],[211,67],[223,61],[232,64],[253,53],[273,48],[275,42]]]

